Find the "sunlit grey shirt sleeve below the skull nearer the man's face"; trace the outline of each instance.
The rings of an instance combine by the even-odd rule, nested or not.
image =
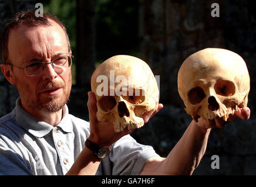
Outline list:
[[[156,156],[159,155],[153,147],[139,144],[132,136],[126,135],[111,147],[108,161],[102,162],[102,174],[139,175],[147,160]]]

